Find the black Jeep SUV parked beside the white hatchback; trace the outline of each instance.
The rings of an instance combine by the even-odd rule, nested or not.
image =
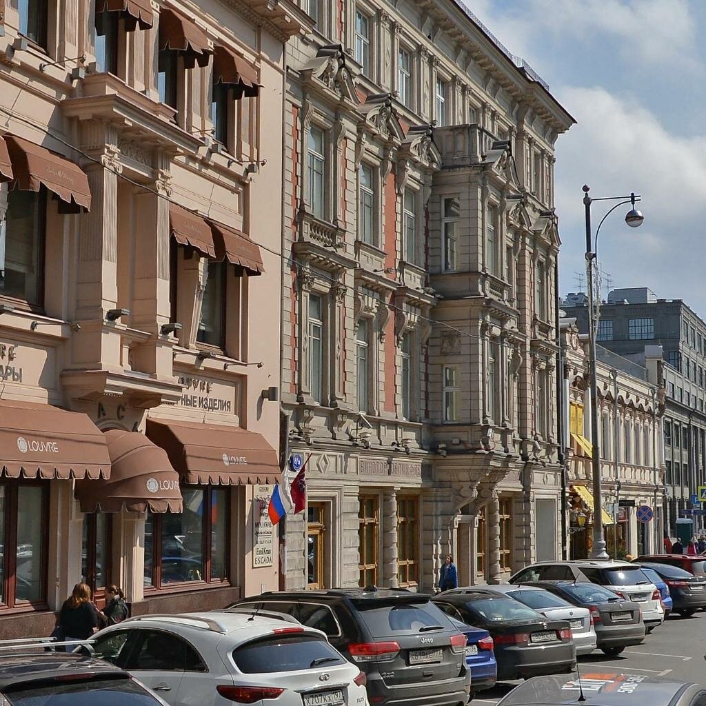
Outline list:
[[[464,706],[465,635],[430,596],[395,589],[268,592],[229,606],[287,613],[328,635],[368,679],[371,706]]]

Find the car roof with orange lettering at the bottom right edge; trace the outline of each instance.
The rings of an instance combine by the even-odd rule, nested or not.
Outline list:
[[[700,689],[695,684],[659,676],[594,673],[588,669],[581,674],[580,686],[586,706],[642,706],[645,697],[654,706],[667,706],[687,689]],[[575,674],[538,676],[515,687],[500,704],[575,704],[579,697],[579,682]]]

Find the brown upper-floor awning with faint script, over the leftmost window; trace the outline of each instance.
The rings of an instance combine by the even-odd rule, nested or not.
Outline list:
[[[5,135],[4,138],[18,189],[39,191],[44,184],[61,201],[81,210],[90,210],[88,177],[78,164],[29,140],[14,135]]]

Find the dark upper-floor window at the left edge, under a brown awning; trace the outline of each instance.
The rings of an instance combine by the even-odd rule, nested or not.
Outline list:
[[[47,192],[7,191],[5,220],[0,221],[0,297],[41,307],[44,299],[44,229]]]

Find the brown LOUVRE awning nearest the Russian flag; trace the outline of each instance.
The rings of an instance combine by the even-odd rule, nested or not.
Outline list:
[[[148,419],[147,436],[167,452],[184,483],[255,485],[280,481],[277,452],[254,431]]]

